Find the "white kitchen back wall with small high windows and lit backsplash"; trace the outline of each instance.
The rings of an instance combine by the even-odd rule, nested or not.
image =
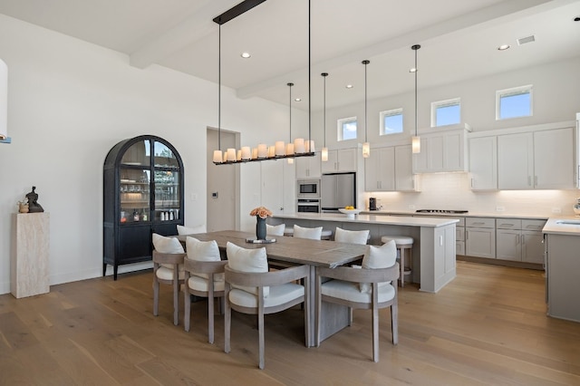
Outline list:
[[[433,89],[419,89],[418,128],[430,130],[430,102],[461,98],[462,121],[468,123],[473,132],[502,130],[546,123],[575,121],[575,113],[580,111],[580,57],[559,63],[520,69],[473,79],[467,82],[448,84]],[[372,80],[370,81],[372,82]],[[526,84],[534,86],[534,115],[506,121],[496,121],[495,93],[511,87]],[[327,96],[330,100],[331,96]],[[379,113],[403,108],[405,132],[393,136],[379,135]],[[358,140],[337,142],[336,120],[351,116],[363,122],[362,103],[343,106],[326,111],[326,143],[329,148],[349,148],[364,138],[359,129]],[[395,95],[390,98],[368,102],[368,137],[372,147],[387,146],[390,143],[410,143],[414,130],[414,93]],[[314,121],[322,120],[317,112]],[[375,192],[363,193],[362,197],[379,198],[380,204],[388,210],[411,210],[411,207],[431,209],[469,209],[473,213],[519,214],[553,216],[553,208],[560,208],[562,214],[573,215],[572,205],[580,196],[577,189],[538,191],[498,191],[472,192],[469,189],[467,173],[438,173],[420,176],[420,193]],[[497,207],[505,207],[505,212],[497,212]]]

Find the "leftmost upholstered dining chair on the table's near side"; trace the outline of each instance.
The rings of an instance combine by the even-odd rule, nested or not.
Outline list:
[[[153,241],[153,314],[159,315],[160,283],[173,286],[173,324],[179,324],[179,285],[185,277],[183,259],[186,254],[176,237],[156,233]]]

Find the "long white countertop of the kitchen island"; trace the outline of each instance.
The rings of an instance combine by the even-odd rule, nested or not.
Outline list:
[[[446,227],[459,222],[457,218],[441,217],[404,217],[385,215],[355,215],[348,217],[340,213],[290,213],[274,215],[275,218],[293,218],[301,220],[339,221],[344,223],[393,225],[404,227]]]

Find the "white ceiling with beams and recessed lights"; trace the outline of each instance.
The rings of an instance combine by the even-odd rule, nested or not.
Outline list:
[[[218,24],[240,0],[0,0],[0,13],[127,53],[131,65],[160,64],[218,82]],[[311,0],[312,108],[580,55],[580,0]],[[517,45],[534,35],[536,42]],[[500,52],[498,45],[511,48]],[[240,53],[252,54],[242,59]],[[269,0],[221,26],[221,82],[240,98],[308,109],[308,0]],[[353,84],[353,89],[344,86]]]

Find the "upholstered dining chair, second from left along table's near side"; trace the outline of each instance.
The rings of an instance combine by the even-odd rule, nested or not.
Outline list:
[[[208,342],[214,343],[214,299],[220,301],[224,296],[224,266],[227,260],[221,260],[218,243],[199,241],[195,237],[186,237],[188,256],[183,261],[185,278],[183,285],[184,314],[183,324],[189,332],[191,320],[191,298],[189,294],[208,298]],[[220,310],[222,308],[220,307]]]

